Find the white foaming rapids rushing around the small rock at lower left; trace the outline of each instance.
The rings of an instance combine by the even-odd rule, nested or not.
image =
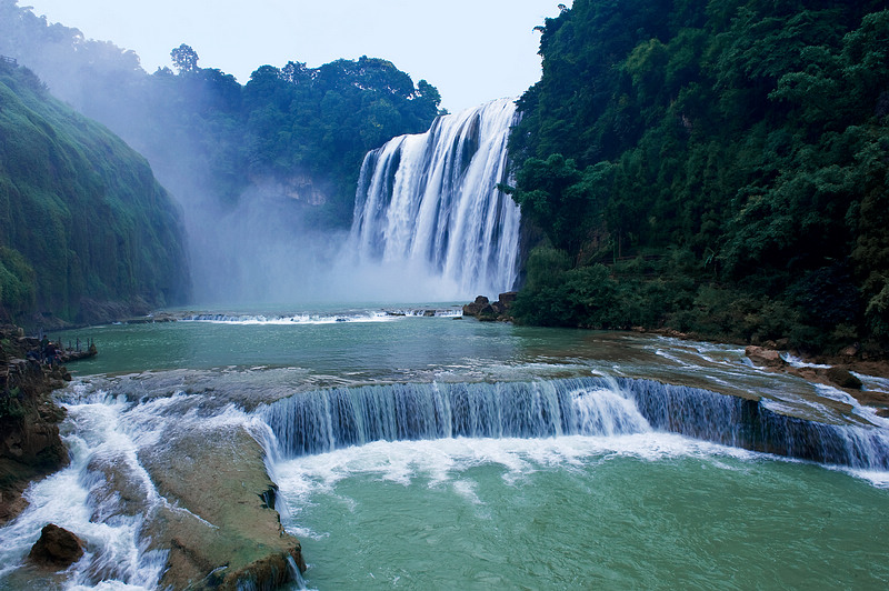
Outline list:
[[[71,463],[34,482],[24,494],[28,509],[0,529],[0,578],[21,565],[44,524],[56,523],[87,544],[87,552],[69,569],[66,589],[157,588],[167,552],[149,550],[142,528],[144,518],[163,500],[136,458],[140,445],[157,438],[158,425],[152,429],[154,421],[144,420],[156,415],[156,409],[148,404],[128,413],[128,407],[122,399],[101,394],[66,405],[63,440]],[[141,420],[134,421],[137,415]],[[119,493],[107,490],[96,465],[114,465],[133,479],[148,511],[127,514]]]

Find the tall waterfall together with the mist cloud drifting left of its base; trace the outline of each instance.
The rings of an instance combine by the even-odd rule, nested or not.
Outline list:
[[[306,198],[253,187],[234,208],[180,199],[200,303],[430,302],[497,296],[518,270],[502,99],[367,154],[350,231],[303,221]],[[177,183],[181,184],[181,183]]]

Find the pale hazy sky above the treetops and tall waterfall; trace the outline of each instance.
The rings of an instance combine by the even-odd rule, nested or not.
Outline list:
[[[568,0],[562,0],[568,6]],[[50,22],[136,51],[142,68],[171,66],[188,43],[202,68],[246,83],[259,66],[317,67],[386,58],[428,80],[459,111],[518,97],[540,78],[540,33],[559,0],[20,0]]]

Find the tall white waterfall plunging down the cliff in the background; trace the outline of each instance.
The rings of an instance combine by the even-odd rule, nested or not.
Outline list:
[[[519,208],[497,184],[508,180],[515,118],[515,102],[501,99],[370,152],[349,241],[359,262],[431,278],[442,300],[511,289]]]

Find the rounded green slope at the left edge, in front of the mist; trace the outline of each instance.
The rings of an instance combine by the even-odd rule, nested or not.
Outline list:
[[[0,61],[0,312],[77,320],[84,299],[181,301],[178,211],[148,162]]]

